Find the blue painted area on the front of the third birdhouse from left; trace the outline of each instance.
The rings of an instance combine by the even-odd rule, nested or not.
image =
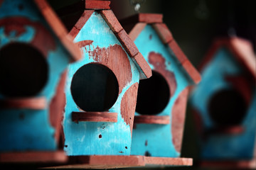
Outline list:
[[[174,96],[171,97],[164,111],[158,115],[170,115],[174,102],[178,95],[188,85],[193,84],[190,77],[183,70],[175,55],[167,45],[164,45],[154,28],[147,25],[134,41],[139,51],[149,63],[152,70],[154,66],[149,62],[149,53],[156,52],[161,54],[165,61],[166,69],[173,72],[177,82],[177,88]],[[135,113],[139,115],[139,113]],[[146,144],[146,145],[145,145]],[[179,157],[180,153],[174,148],[171,135],[171,123],[169,125],[147,125],[137,124],[132,135],[132,154],[144,155],[150,154],[152,157]]]

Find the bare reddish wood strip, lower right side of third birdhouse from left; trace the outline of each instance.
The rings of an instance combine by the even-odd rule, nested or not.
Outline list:
[[[188,88],[184,89],[176,99],[171,112],[171,134],[177,152],[181,153],[183,129],[186,117],[186,103],[188,101]]]

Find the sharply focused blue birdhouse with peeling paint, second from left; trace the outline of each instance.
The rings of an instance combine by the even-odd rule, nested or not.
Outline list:
[[[103,160],[132,166],[132,157],[116,156],[130,155],[139,79],[151,77],[149,64],[110,10],[110,1],[80,1],[58,13],[83,52],[82,60],[68,67],[64,150],[83,168]]]

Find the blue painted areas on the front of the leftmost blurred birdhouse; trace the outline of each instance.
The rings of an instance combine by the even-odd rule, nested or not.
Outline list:
[[[23,6],[23,10],[20,10],[19,6]],[[42,91],[36,95],[44,96],[47,106],[49,106],[55,94],[55,88],[60,80],[60,75],[68,66],[69,54],[60,43],[60,40],[54,35],[53,31],[50,30],[50,27],[43,16],[41,16],[40,11],[38,11],[33,1],[4,1],[0,7],[0,21],[8,17],[23,17],[29,21],[41,23],[43,27],[47,28],[50,35],[53,36],[55,49],[49,50],[46,57],[49,70],[48,81]],[[16,31],[12,31],[9,35],[6,35],[4,29],[4,26],[0,26],[0,48],[11,42],[30,43],[37,31],[33,26],[26,26],[26,30],[21,35],[17,35]],[[0,94],[0,98],[4,99],[4,96]],[[54,139],[55,130],[50,125],[48,107],[41,111],[30,109],[1,109],[0,129],[0,152],[28,150],[53,151],[57,149]]]

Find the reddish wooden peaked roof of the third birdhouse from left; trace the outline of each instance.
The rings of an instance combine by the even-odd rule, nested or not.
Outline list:
[[[121,21],[122,24],[127,25],[127,32],[129,33],[132,40],[136,40],[137,36],[142,32],[147,24],[150,24],[159,38],[164,44],[169,45],[171,50],[174,52],[176,59],[181,63],[183,69],[191,77],[195,84],[201,81],[201,76],[195,67],[188,60],[186,55],[182,52],[181,48],[178,46],[177,42],[174,40],[171,31],[163,23],[163,15],[158,13],[138,13],[129,18],[125,18]]]

